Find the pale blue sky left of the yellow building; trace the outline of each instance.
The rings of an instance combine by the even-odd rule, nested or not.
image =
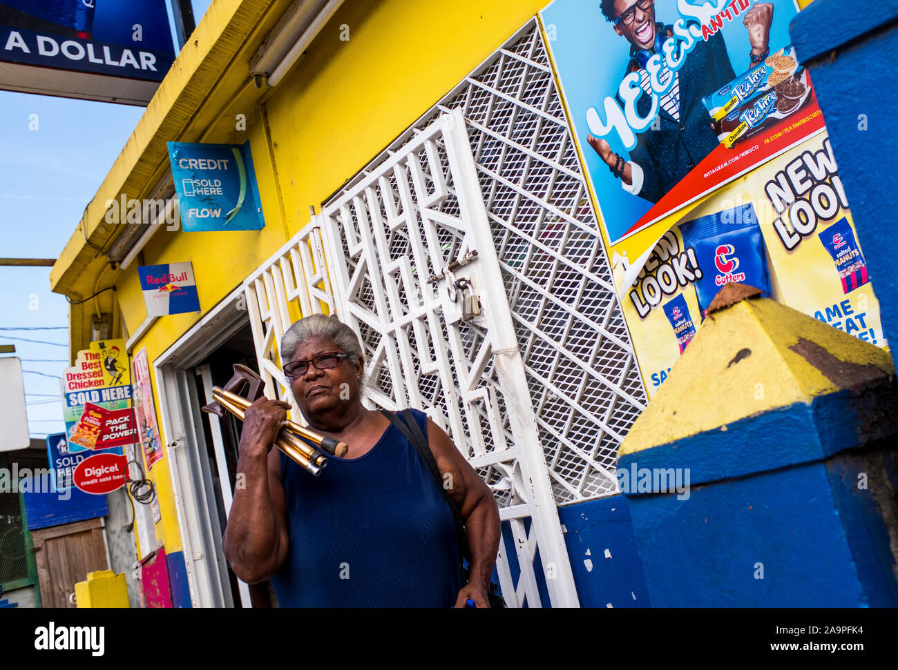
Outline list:
[[[197,22],[211,2],[192,0]],[[58,257],[143,112],[0,91],[0,257]],[[34,130],[31,115],[37,115]],[[31,437],[62,432],[66,299],[50,291],[48,267],[0,267],[0,285],[0,344],[15,344],[16,352],[4,355],[21,358],[26,370]]]

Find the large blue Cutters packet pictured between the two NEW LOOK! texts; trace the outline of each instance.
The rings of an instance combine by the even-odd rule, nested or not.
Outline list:
[[[694,285],[702,319],[727,283],[747,283],[770,296],[767,253],[753,204],[700,216],[681,224],[680,231],[699,259],[701,276]]]

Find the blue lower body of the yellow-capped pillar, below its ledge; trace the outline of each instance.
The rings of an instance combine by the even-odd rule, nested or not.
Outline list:
[[[708,483],[687,500],[629,496],[652,604],[898,606],[887,521],[895,453],[847,452]],[[858,488],[861,473],[866,489]],[[889,507],[881,512],[877,503]]]

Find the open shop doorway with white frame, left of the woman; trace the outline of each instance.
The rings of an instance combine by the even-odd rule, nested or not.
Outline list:
[[[172,492],[194,607],[270,607],[273,590],[237,579],[222,535],[233,500],[242,423],[201,411],[233,364],[258,370],[242,287],[233,291],[155,361]]]

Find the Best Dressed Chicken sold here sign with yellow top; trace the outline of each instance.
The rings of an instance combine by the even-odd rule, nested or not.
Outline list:
[[[118,411],[113,417],[117,421],[110,424],[110,432],[107,434],[111,435],[122,430],[132,432],[128,436],[119,435],[123,441],[117,444],[124,444],[133,439],[133,427],[127,425],[120,427],[120,416],[124,414],[121,411],[130,407],[131,400],[131,378],[124,340],[92,342],[89,349],[78,352],[75,366],[63,371],[62,390],[63,419],[66,422],[69,451],[75,453],[92,449],[77,443],[90,442],[92,438],[88,437],[88,433],[92,433],[91,430],[85,428],[73,440],[78,426],[81,425],[84,407],[88,404],[98,406],[102,410]],[[103,425],[105,427],[105,422]],[[116,429],[116,426],[120,428]],[[95,447],[95,441],[93,443]],[[120,447],[116,453],[122,453]]]

